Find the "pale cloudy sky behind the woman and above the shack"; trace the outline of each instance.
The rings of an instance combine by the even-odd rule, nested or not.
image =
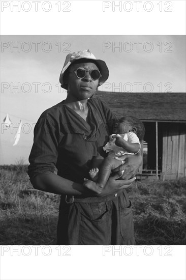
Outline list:
[[[28,163],[39,116],[66,98],[59,85],[66,55],[81,49],[109,68],[101,91],[185,92],[185,36],[2,36],[1,124],[7,113],[12,124],[1,125],[1,164]]]

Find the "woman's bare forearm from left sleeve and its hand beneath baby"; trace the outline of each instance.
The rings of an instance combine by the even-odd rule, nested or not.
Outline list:
[[[127,188],[131,185],[131,183],[135,180],[135,178],[131,180],[125,181],[117,181],[116,179],[119,177],[116,174],[113,177],[110,177],[104,191],[100,194],[100,196],[108,195],[113,193],[114,191],[118,191],[122,188]],[[47,174],[40,174],[31,180],[34,188],[52,192],[56,194],[70,194],[70,195],[97,195],[95,192],[83,187],[81,184],[72,182],[63,177],[60,177],[52,172],[48,172]]]

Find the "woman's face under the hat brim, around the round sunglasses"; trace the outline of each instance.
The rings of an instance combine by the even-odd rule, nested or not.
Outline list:
[[[86,72],[84,78],[78,78],[76,73],[74,73],[78,67],[83,67],[86,70],[99,70],[96,64],[92,62],[72,64],[70,66],[68,74],[68,97],[71,97],[74,101],[90,98],[97,90],[99,82],[99,80],[92,80],[89,72]]]

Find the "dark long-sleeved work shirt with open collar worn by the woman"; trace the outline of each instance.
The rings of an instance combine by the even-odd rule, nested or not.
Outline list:
[[[91,168],[92,157],[106,157],[103,146],[112,133],[115,115],[99,98],[87,100],[86,122],[64,101],[45,110],[34,129],[34,144],[29,155],[30,181],[45,172],[83,183]]]

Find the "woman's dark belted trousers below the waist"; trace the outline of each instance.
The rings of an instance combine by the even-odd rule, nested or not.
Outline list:
[[[126,190],[111,200],[67,204],[61,196],[57,225],[59,245],[135,244],[132,205]]]

